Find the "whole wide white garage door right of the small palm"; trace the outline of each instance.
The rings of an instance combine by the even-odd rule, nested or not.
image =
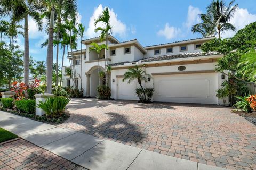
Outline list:
[[[178,103],[217,104],[217,73],[154,75],[153,100]]]

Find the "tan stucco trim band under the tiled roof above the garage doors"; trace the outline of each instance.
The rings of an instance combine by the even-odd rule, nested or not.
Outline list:
[[[165,62],[165,63],[153,63],[153,64],[147,64],[147,67],[163,67],[163,66],[173,66],[173,65],[187,65],[187,64],[204,64],[204,63],[214,63],[217,62],[218,58],[208,58],[206,60],[192,60],[192,61],[178,61],[178,62]],[[143,63],[142,63],[143,64]],[[134,65],[131,66],[122,66],[122,67],[112,67],[112,70],[119,70],[119,69],[129,69],[134,67]],[[139,67],[145,67],[143,65]]]

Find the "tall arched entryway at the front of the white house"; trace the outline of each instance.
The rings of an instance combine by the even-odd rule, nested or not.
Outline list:
[[[95,97],[98,95],[97,87],[99,86],[99,70],[105,71],[102,66],[93,66],[91,69],[85,73],[87,78],[86,86],[86,96]],[[103,81],[100,80],[100,83],[103,84]]]

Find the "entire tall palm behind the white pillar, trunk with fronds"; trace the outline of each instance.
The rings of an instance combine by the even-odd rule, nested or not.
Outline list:
[[[53,33],[54,33],[54,20],[56,19],[55,12],[57,9],[63,9],[63,18],[70,18],[76,21],[77,4],[75,0],[44,0],[45,6],[50,9],[50,21],[48,31],[48,46],[47,46],[47,93],[52,92],[52,65],[53,65]]]

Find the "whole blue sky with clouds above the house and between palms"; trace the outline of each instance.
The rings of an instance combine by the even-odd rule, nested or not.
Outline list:
[[[77,20],[85,26],[83,39],[98,36],[94,32],[94,19],[102,13],[103,8],[109,7],[114,37],[119,41],[137,39],[142,46],[149,46],[201,37],[191,33],[191,26],[200,22],[198,14],[205,13],[206,6],[210,3],[211,0],[77,0]],[[256,21],[255,0],[236,0],[235,3],[238,3],[239,8],[230,23],[236,27],[236,30]],[[228,31],[222,37],[231,37],[235,33]],[[33,19],[29,18],[29,50],[30,56],[35,60],[46,61],[47,47],[41,48],[41,44],[47,37],[45,29],[39,32]],[[23,37],[19,36],[16,41],[23,49]],[[54,49],[54,62],[55,51]],[[59,54],[61,58],[62,52]],[[65,60],[64,65],[69,65],[68,60]]]

